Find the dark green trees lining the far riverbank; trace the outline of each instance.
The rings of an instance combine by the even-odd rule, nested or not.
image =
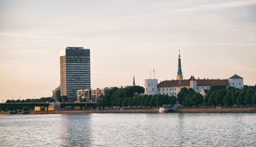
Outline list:
[[[215,85],[210,87],[205,96],[195,92],[192,88],[187,89],[186,87],[180,90],[177,97],[162,94],[135,96],[136,93],[144,93],[144,88],[141,86],[113,88],[108,94],[99,96],[100,99],[97,101],[97,107],[102,109],[106,107],[127,108],[129,106],[153,108],[177,104],[180,107],[256,106],[256,85],[245,85],[243,89]],[[64,100],[67,102],[68,99]],[[6,101],[6,103],[39,102],[54,102],[54,100],[51,97],[42,97],[41,99]]]

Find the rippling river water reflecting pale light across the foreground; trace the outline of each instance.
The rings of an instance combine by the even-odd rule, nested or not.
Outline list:
[[[1,115],[1,146],[256,146],[255,113]]]

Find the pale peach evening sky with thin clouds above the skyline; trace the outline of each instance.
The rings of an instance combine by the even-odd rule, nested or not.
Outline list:
[[[255,85],[255,14],[256,0],[1,0],[0,101],[51,96],[67,46],[90,48],[91,88],[176,79],[179,50],[184,79]]]

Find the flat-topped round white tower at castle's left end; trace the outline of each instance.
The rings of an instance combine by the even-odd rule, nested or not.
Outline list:
[[[157,79],[145,79],[144,83],[145,83],[144,94],[147,94],[147,95],[157,94],[157,86],[158,86]]]

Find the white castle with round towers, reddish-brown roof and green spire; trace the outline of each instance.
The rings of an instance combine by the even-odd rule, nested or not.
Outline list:
[[[229,79],[196,79],[191,76],[187,80],[183,80],[182,70],[181,70],[181,58],[179,53],[178,58],[178,72],[177,72],[177,80],[165,80],[157,84],[157,79],[145,79],[144,81],[145,86],[145,93],[147,95],[154,95],[154,94],[167,94],[169,96],[177,94],[180,92],[181,88],[193,88],[196,92],[202,94],[203,96],[206,92],[210,89],[212,85],[224,85],[226,87],[232,86],[239,89],[243,88],[243,78],[234,75]],[[156,89],[157,88],[157,89]]]

